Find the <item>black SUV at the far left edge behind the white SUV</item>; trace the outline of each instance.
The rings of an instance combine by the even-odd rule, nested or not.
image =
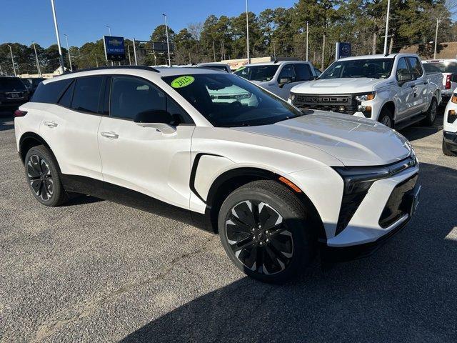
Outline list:
[[[29,91],[15,76],[0,76],[0,111],[15,111],[29,101]]]

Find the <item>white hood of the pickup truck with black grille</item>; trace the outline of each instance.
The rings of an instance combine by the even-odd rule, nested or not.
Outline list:
[[[291,89],[291,93],[298,94],[356,94],[375,90],[375,86],[382,84],[383,79],[368,79],[367,77],[353,79],[322,79],[298,84]]]

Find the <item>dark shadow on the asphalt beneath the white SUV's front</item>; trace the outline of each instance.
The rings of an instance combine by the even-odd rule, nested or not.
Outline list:
[[[457,172],[424,163],[419,182],[416,216],[373,256],[282,286],[238,279],[122,342],[455,342]]]

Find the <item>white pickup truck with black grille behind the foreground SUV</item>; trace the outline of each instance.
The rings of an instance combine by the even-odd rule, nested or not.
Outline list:
[[[348,57],[314,81],[291,89],[300,109],[323,109],[380,121],[401,129],[432,125],[441,101],[441,73],[427,74],[415,54]]]

